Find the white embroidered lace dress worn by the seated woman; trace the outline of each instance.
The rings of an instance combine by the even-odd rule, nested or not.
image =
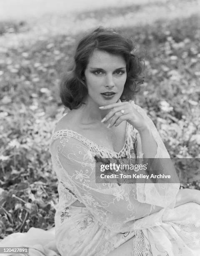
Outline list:
[[[153,122],[142,108],[131,104],[148,122],[158,146],[155,158],[169,158]],[[119,152],[67,129],[53,134],[50,152],[59,181],[55,225],[63,256],[107,255],[130,238],[134,256],[200,254],[200,206],[174,208],[180,184],[95,183],[95,157],[143,157],[140,135],[132,125],[127,123]],[[76,200],[86,208],[71,207]]]

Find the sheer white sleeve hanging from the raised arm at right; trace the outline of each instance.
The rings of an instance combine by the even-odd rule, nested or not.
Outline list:
[[[156,159],[164,161],[166,166],[163,168],[163,173],[170,174],[173,177],[172,183],[140,183],[137,184],[137,199],[139,202],[145,202],[152,205],[158,205],[160,207],[169,207],[173,208],[175,206],[175,197],[180,188],[180,183],[178,176],[176,174],[175,168],[171,165],[170,155],[165,148],[165,145],[160,138],[160,135],[153,123],[153,121],[148,117],[145,110],[136,105],[134,101],[131,102],[134,108],[143,115],[147,120],[147,123],[150,127],[153,138],[157,143],[157,153],[155,155]],[[138,140],[138,155],[143,156],[142,147],[141,147],[141,138],[139,133],[137,133]],[[169,159],[169,160],[167,160]],[[167,160],[167,161],[166,161]],[[158,160],[157,160],[158,161]],[[162,164],[161,164],[162,165]],[[161,173],[161,171],[160,171]],[[176,183],[175,183],[176,182]]]

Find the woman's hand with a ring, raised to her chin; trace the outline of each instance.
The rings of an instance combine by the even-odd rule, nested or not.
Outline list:
[[[116,102],[106,106],[100,107],[102,110],[109,110],[110,112],[101,120],[107,125],[107,128],[112,127],[113,125],[117,126],[122,121],[127,121],[139,132],[146,130],[148,124],[142,115],[131,105],[130,102]]]

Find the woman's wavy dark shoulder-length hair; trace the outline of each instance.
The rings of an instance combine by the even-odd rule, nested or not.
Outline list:
[[[84,72],[95,49],[121,55],[125,59],[127,79],[120,97],[121,101],[132,100],[135,93],[140,90],[139,85],[144,82],[141,75],[144,63],[140,57],[133,54],[135,52],[133,40],[117,30],[98,27],[80,40],[72,66],[60,84],[60,98],[70,110],[85,104],[83,100],[88,95],[88,90],[84,81]]]

